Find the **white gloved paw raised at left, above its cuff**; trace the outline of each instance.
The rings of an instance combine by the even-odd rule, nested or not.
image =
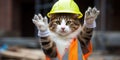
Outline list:
[[[33,23],[36,25],[38,30],[40,31],[46,31],[48,28],[48,19],[47,17],[42,17],[41,14],[34,15],[34,18],[32,19]]]

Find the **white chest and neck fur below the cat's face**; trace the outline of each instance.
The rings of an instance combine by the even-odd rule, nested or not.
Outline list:
[[[56,43],[58,52],[60,55],[64,55],[65,49],[69,49],[69,45],[71,44],[71,41],[73,38],[76,38],[77,35],[80,33],[81,27],[78,28],[75,32],[70,34],[69,36],[58,36],[54,32],[50,31],[50,38]]]

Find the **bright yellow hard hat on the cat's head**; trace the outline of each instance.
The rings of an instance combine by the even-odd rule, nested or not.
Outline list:
[[[59,0],[57,1],[51,11],[47,14],[50,18],[51,14],[55,13],[73,13],[78,14],[78,18],[82,18],[83,14],[80,12],[78,5],[74,0]]]

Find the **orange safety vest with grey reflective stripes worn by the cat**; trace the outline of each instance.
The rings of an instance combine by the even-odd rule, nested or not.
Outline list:
[[[60,56],[59,52],[57,58],[49,58],[46,56],[46,60],[87,60],[88,56],[92,52],[92,45],[91,42],[88,45],[89,53],[83,54],[80,42],[74,38],[72,43],[69,47],[69,50],[64,54],[64,56]]]

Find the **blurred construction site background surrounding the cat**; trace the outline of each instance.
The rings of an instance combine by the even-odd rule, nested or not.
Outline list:
[[[34,14],[46,15],[57,0],[0,0],[0,60],[44,60],[32,23]],[[82,13],[89,6],[100,15],[89,60],[120,60],[120,0],[75,0]]]

